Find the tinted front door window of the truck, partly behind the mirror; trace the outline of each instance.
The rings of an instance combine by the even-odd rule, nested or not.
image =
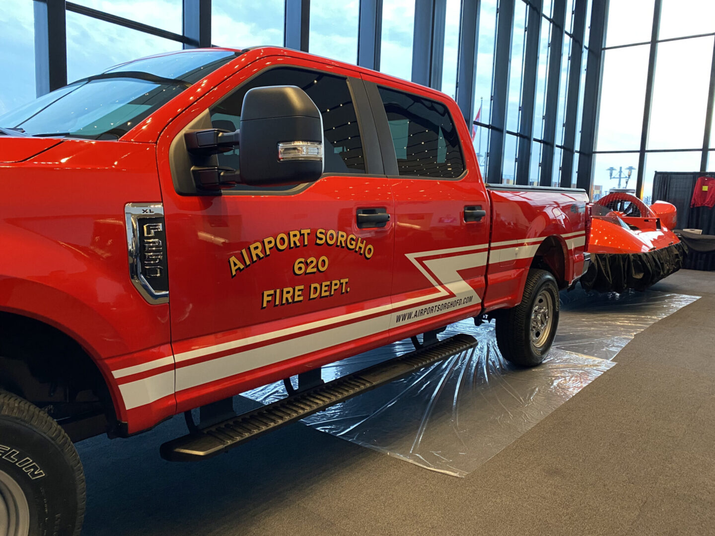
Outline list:
[[[262,86],[298,86],[315,102],[322,114],[326,173],[365,173],[358,118],[347,80],[342,76],[292,67],[268,69],[209,110],[214,128],[237,130],[241,121],[243,97],[249,89]],[[238,169],[238,152],[239,149],[235,149],[219,154],[219,165]]]

